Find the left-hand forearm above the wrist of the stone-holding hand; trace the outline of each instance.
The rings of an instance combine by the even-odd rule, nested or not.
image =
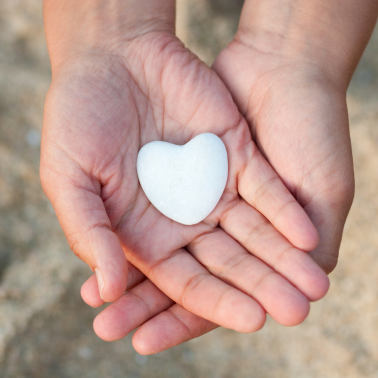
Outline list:
[[[117,51],[147,32],[174,33],[175,0],[44,0],[52,69],[83,53]]]

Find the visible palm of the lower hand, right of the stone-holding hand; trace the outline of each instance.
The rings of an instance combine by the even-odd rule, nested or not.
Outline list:
[[[329,273],[353,197],[345,93],[310,62],[264,54],[237,41],[214,67],[258,147],[314,222],[320,242],[311,254]]]

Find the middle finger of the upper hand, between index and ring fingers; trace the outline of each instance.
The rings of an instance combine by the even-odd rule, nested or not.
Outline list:
[[[200,236],[187,249],[212,274],[258,301],[278,323],[297,325],[309,314],[304,294],[221,228]]]

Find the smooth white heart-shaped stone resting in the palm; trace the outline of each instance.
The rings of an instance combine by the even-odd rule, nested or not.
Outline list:
[[[221,198],[228,175],[227,151],[221,139],[208,132],[184,146],[151,142],[139,151],[136,170],[147,198],[162,214],[196,224]]]

